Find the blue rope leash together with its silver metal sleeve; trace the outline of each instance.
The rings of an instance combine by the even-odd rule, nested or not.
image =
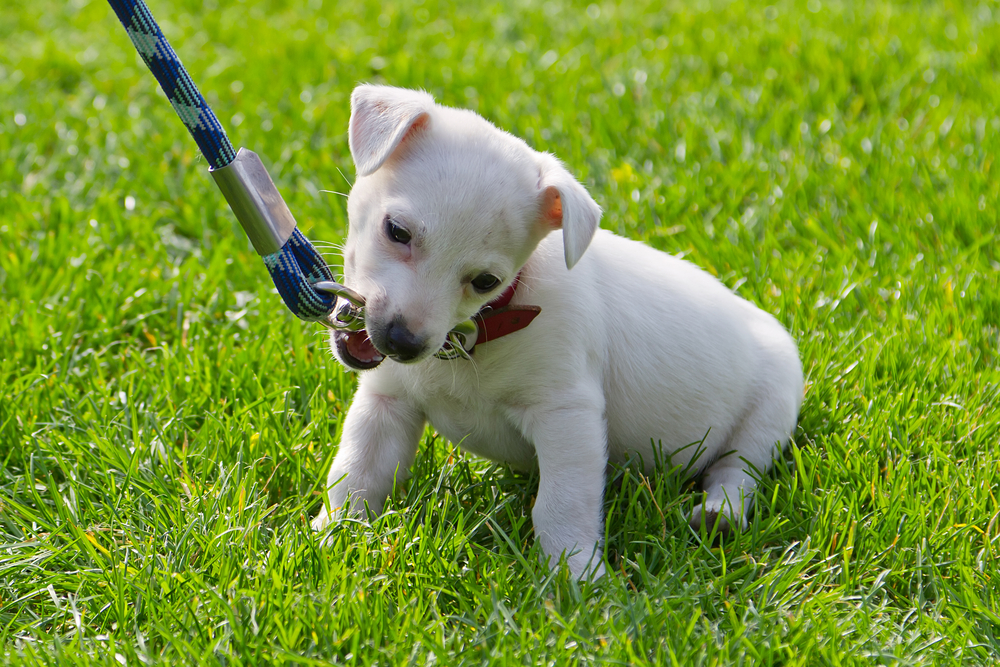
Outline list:
[[[295,224],[260,158],[229,137],[142,0],[108,0],[174,111],[211,165],[212,178],[261,255],[288,309],[307,321],[330,316],[337,297],[315,289],[333,280],[323,257]]]

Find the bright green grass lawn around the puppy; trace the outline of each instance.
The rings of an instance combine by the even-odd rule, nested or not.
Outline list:
[[[689,483],[621,471],[598,584],[537,563],[535,479],[430,431],[386,515],[320,546],[354,377],[284,310],[109,7],[9,2],[4,661],[1000,663],[1000,4],[152,9],[331,262],[351,89],[422,87],[774,313],[805,402],[721,546],[687,527]]]

